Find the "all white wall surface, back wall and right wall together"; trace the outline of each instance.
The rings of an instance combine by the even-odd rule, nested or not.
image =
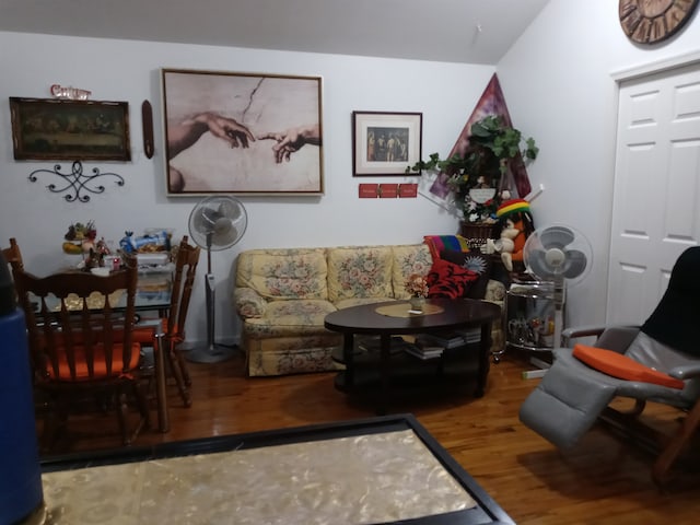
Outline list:
[[[700,49],[698,15],[672,39],[639,46],[622,33],[617,2],[552,0],[498,65],[501,86],[520,129],[537,139],[540,156],[528,167],[533,186],[545,192],[533,203],[537,224],[561,222],[591,241],[594,265],[584,285],[569,293],[569,324],[605,319],[607,258],[615,161],[619,70]],[[54,83],[84,88],[95,100],[128,101],[130,163],[101,164],[122,174],[124,188],[108,187],[90,203],[68,203],[50,195],[31,171],[52,163],[15,162],[9,110],[0,112],[0,245],[20,240],[27,266],[48,271],[65,257],[60,241],[69,223],[94,219],[100,234],[119,238],[125,230],[170,226],[187,233],[197,198],[167,199],[164,190],[159,69],[191,68],[310,74],[324,78],[326,195],[310,198],[243,197],[249,228],[243,241],[213,256],[218,285],[217,332],[231,338],[237,327],[229,306],[229,271],[240,249],[419,242],[427,233],[453,233],[456,219],[424,198],[360,200],[360,182],[411,178],[353,178],[352,110],[422,112],[423,156],[446,154],[494,68],[442,62],[369,59],[335,55],[184,46],[141,42],[0,33],[0,98],[48,97]],[[140,105],[155,109],[156,154],[142,152]],[[92,164],[88,164],[92,167]],[[202,257],[200,262],[206,265]],[[202,339],[202,285],[188,326]]]

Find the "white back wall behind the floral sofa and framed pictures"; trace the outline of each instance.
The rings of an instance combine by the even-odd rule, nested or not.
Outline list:
[[[241,249],[418,243],[424,234],[455,233],[457,220],[425,198],[357,198],[361,182],[416,178],[352,177],[351,113],[422,112],[423,156],[433,151],[444,155],[494,72],[485,66],[1,32],[0,49],[0,100],[49,97],[49,86],[58,83],[90,90],[93,100],[130,105],[132,162],[85,163],[85,168],[98,166],[121,174],[126,185],[118,188],[107,180],[105,194],[93,196],[89,203],[66,202],[61,195],[47,191],[45,185],[52,182],[48,176],[38,183],[27,180],[32,171],[54,163],[14,161],[10,113],[0,112],[0,246],[18,237],[27,268],[39,273],[66,262],[60,243],[75,221],[95,220],[98,234],[115,241],[126,230],[140,233],[145,228],[173,228],[176,238],[187,233],[187,218],[198,198],[165,197],[160,68],[323,77],[326,192],[307,198],[242,197],[249,215],[246,235],[212,257],[218,281],[217,335],[222,339],[237,337],[229,275]],[[140,107],[144,100],[151,101],[155,113],[152,160],[142,150]],[[200,267],[203,276],[205,256]],[[188,339],[205,338],[202,277],[190,306]]]

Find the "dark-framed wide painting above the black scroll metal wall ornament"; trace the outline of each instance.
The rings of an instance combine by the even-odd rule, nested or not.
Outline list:
[[[15,160],[129,161],[126,102],[10,97]]]

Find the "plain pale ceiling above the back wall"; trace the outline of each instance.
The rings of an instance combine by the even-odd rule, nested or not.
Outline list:
[[[2,0],[0,31],[495,65],[549,0]]]

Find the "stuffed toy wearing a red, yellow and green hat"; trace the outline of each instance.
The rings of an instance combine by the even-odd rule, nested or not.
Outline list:
[[[513,261],[523,261],[525,241],[535,231],[529,202],[525,199],[506,200],[495,211],[495,217],[501,221],[501,236],[495,241],[487,240],[481,250],[486,254],[500,253],[505,269],[513,271]]]

